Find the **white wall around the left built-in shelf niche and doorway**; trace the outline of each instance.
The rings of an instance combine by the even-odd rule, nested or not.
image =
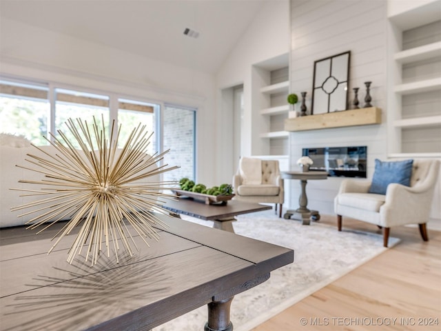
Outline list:
[[[255,155],[252,151],[256,132],[260,128],[252,125],[252,66],[256,63],[278,57],[289,52],[289,0],[274,0],[267,3],[256,15],[247,31],[240,38],[234,50],[229,54],[216,74],[218,90],[217,122],[221,123],[222,131],[218,132],[217,141],[223,143],[222,134],[225,130],[232,132],[232,109],[225,107],[223,90],[243,84],[244,88],[244,123],[242,126],[243,155]],[[254,132],[253,130],[256,130]],[[258,143],[254,143],[254,146]],[[223,165],[218,177],[231,181],[236,171],[237,160],[233,158],[233,148],[220,150],[218,162]]]

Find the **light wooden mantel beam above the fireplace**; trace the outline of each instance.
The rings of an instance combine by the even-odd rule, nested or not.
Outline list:
[[[370,107],[285,119],[285,131],[319,130],[380,123],[381,109]]]

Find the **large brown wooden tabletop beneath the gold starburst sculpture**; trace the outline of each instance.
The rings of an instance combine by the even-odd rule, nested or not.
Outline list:
[[[170,228],[158,242],[134,236],[134,257],[101,254],[94,267],[65,261],[72,235],[46,254],[62,224],[0,230],[0,329],[149,330],[294,261],[288,248],[160,217]]]

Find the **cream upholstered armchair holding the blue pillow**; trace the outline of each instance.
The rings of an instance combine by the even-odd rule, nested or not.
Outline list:
[[[426,223],[429,221],[440,162],[413,160],[410,169],[409,185],[389,183],[385,194],[369,193],[373,186],[371,182],[354,179],[342,181],[334,199],[338,231],[342,229],[343,216],[372,223],[382,228],[383,245],[387,247],[390,228],[418,223],[422,239],[428,241]],[[373,177],[375,179],[376,173]]]

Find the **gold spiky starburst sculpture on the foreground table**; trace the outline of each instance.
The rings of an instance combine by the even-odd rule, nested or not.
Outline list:
[[[104,120],[102,120],[104,123]],[[114,132],[112,123],[110,140],[106,139],[104,124],[100,129],[93,120],[92,128],[86,121],[69,119],[65,125],[73,135],[80,148],[74,148],[74,143],[58,130],[58,139],[50,134],[52,141],[46,138],[57,150],[55,154],[43,151],[45,157],[28,154],[32,168],[17,165],[20,168],[39,172],[44,175],[41,181],[21,180],[21,183],[38,184],[39,190],[12,189],[25,191],[22,196],[41,196],[42,199],[19,205],[11,210],[34,208],[30,212],[39,212],[39,216],[30,219],[26,224],[34,229],[44,225],[41,231],[63,219],[70,219],[63,228],[52,238],[55,246],[70,234],[76,226],[81,226],[72,247],[68,252],[69,263],[85,248],[85,261],[90,259],[96,264],[101,251],[111,250],[119,261],[118,252],[122,245],[125,252],[134,254],[133,234],[127,224],[147,243],[147,238],[158,241],[159,236],[152,225],[167,227],[154,212],[167,214],[159,201],[161,197],[174,199],[172,195],[163,193],[167,185],[174,182],[142,181],[147,177],[155,178],[158,174],[178,168],[168,165],[157,166],[163,160],[165,151],[161,154],[148,155],[146,150],[150,137],[145,126],[134,128],[123,148],[118,149],[119,130]],[[57,238],[58,237],[58,238]],[[104,248],[103,248],[104,245]]]

